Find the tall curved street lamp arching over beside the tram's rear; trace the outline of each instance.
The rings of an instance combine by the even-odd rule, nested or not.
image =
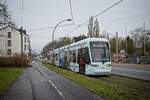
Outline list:
[[[55,33],[55,30],[56,30],[56,28],[61,24],[61,23],[63,23],[63,22],[66,22],[66,21],[72,21],[71,19],[65,19],[65,20],[62,20],[62,21],[60,21],[60,22],[58,22],[57,24],[56,24],[56,26],[54,27],[54,29],[53,29],[53,34],[52,34],[52,42],[54,41],[54,33]],[[54,50],[55,48],[54,48],[54,44],[52,44],[52,55],[53,55],[53,64],[54,64],[54,54],[53,54],[53,50]]]

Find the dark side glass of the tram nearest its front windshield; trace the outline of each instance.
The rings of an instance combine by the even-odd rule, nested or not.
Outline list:
[[[81,48],[81,49],[78,50],[78,63],[80,62],[80,58],[83,59],[86,64],[90,63],[90,56],[89,56],[88,47]]]

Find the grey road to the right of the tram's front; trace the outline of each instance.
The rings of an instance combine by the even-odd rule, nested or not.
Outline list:
[[[113,64],[112,74],[150,81],[150,65]]]

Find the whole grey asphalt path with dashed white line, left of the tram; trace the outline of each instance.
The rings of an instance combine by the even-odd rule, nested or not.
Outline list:
[[[103,100],[89,90],[33,62],[0,100]]]

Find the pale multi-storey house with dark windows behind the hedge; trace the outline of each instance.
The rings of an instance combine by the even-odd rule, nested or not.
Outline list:
[[[22,28],[7,25],[0,28],[0,56],[30,53],[30,36]]]

